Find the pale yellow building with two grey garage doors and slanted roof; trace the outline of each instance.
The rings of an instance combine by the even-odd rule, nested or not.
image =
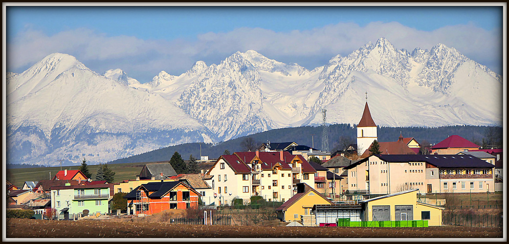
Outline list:
[[[429,226],[442,225],[443,207],[417,202],[417,189],[360,201],[364,221],[427,220]]]

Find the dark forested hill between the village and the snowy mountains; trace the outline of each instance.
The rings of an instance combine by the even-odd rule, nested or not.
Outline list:
[[[312,146],[314,148],[322,149],[322,127],[297,127],[297,128],[284,128],[261,132],[245,137],[236,138],[233,140],[218,143],[202,143],[202,155],[209,156],[209,159],[218,158],[224,154],[225,150],[234,153],[235,151],[242,151],[248,148],[258,148],[261,143],[267,142],[287,142],[295,141],[299,145]],[[489,131],[495,131],[498,138],[502,138],[501,127],[485,127],[485,126],[446,126],[437,128],[424,128],[424,127],[404,127],[404,128],[391,128],[379,127],[378,139],[379,141],[397,141],[400,132],[403,137],[414,137],[417,141],[428,141],[431,144],[436,144],[450,135],[459,135],[467,140],[470,140],[478,145],[482,145],[482,140],[487,140]],[[332,151],[343,149],[342,144],[346,142],[356,143],[356,129],[347,124],[330,125],[327,127],[329,138],[329,149]],[[312,134],[314,136],[312,137]],[[493,134],[493,133],[492,133]],[[251,139],[249,139],[251,138]],[[348,144],[348,143],[347,143]],[[167,161],[172,155],[178,151],[184,160],[189,159],[190,155],[200,158],[200,143],[186,143],[176,146],[169,146],[150,151],[148,153],[118,159],[110,163],[134,163],[134,162],[155,162]]]

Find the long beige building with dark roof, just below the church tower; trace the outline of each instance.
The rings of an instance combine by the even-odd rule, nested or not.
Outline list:
[[[348,190],[391,194],[494,192],[494,165],[468,155],[373,155],[348,167]]]

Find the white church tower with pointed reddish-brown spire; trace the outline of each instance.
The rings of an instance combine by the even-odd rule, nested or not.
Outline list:
[[[366,149],[369,149],[374,140],[378,141],[377,125],[371,117],[370,108],[366,102],[362,118],[357,125],[357,154],[362,155]]]

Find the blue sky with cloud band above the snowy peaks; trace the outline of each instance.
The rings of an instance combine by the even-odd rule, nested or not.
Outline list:
[[[501,7],[7,7],[8,71],[53,52],[140,82],[218,64],[252,49],[308,69],[385,37],[396,48],[438,43],[501,74]]]

